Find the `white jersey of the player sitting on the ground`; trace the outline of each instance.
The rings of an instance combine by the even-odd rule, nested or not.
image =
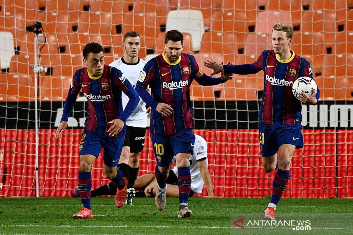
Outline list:
[[[196,193],[201,193],[203,188],[203,179],[200,173],[200,168],[197,161],[206,158],[207,161],[207,143],[204,138],[195,134],[194,154],[190,157],[190,174],[191,174],[191,190]],[[178,177],[178,167],[174,166],[172,171]]]

